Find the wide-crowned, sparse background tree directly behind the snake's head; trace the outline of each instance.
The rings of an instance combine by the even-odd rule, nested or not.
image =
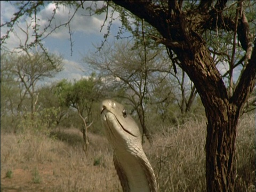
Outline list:
[[[161,52],[161,47],[158,50],[145,50],[143,45],[123,42],[115,43],[114,46],[105,44],[99,52],[89,54],[84,59],[102,74],[110,90],[115,90],[111,97],[129,101],[138,114],[142,132],[150,143],[153,140],[145,122],[147,106],[153,101],[150,98],[153,97],[151,94],[154,86],[163,81],[166,76],[163,73],[168,73],[171,68]],[[154,103],[160,103],[169,97],[170,90],[167,90],[166,94],[162,94],[162,100],[154,100]]]

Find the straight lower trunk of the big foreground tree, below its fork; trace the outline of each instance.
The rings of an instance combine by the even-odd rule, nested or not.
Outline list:
[[[215,102],[214,100],[208,102]],[[229,103],[219,102],[218,113],[206,110],[206,186],[207,191],[234,191],[235,139],[239,113]]]

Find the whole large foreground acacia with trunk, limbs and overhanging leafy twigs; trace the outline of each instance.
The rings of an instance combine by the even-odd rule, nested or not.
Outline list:
[[[145,20],[154,35],[149,34],[156,42],[162,43],[175,65],[179,65],[193,81],[199,96],[201,97],[207,117],[206,135],[206,184],[207,191],[234,191],[235,183],[235,139],[239,115],[246,99],[255,87],[256,74],[256,48],[251,24],[255,23],[255,15],[247,20],[250,12],[255,12],[254,1],[227,0],[209,1],[113,1],[106,3],[98,9],[98,13],[108,10],[113,6],[121,14],[124,26],[130,28],[129,16]],[[62,2],[63,3],[63,2]],[[35,17],[37,8],[42,1],[23,3],[20,11],[2,26],[9,26],[10,30],[1,37],[1,46],[8,37],[15,22],[21,15],[29,13]],[[57,4],[60,4],[59,2]],[[65,4],[65,3],[64,3]],[[84,2],[69,2],[74,4],[76,11],[84,7]],[[26,8],[26,9],[25,9]],[[53,14],[54,17],[54,14]],[[111,12],[110,17],[113,17]],[[69,26],[69,22],[61,23],[54,29],[63,25]],[[51,26],[51,19],[49,26]],[[46,27],[49,27],[46,26]],[[254,26],[255,27],[255,26]],[[52,33],[51,30],[50,33]],[[42,33],[34,28],[36,41],[42,41],[46,30]],[[70,31],[70,30],[69,30]],[[207,45],[206,31],[216,31],[217,34],[233,34],[232,52],[227,52],[231,58],[238,43],[241,44],[244,60],[237,83],[234,83],[235,59],[229,63],[229,89],[225,86],[220,71],[215,66],[211,45]],[[157,35],[156,35],[157,34]],[[107,36],[107,34],[105,35]],[[238,41],[237,41],[238,39]],[[71,41],[70,41],[71,42]],[[235,46],[236,45],[236,46]]]

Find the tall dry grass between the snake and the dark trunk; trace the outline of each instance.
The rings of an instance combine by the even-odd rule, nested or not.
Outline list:
[[[194,121],[169,134],[155,135],[150,160],[159,191],[205,190],[205,125]]]

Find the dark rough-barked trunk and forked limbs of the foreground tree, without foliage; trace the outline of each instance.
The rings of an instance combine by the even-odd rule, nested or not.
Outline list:
[[[210,51],[198,33],[198,30],[213,29],[216,25],[234,31],[235,22],[221,15],[226,0],[217,1],[214,9],[210,11],[207,9],[213,1],[206,3],[201,1],[194,12],[183,12],[182,1],[168,1],[168,7],[165,8],[153,1],[113,2],[137,17],[145,19],[156,28],[162,37],[155,37],[155,40],[165,44],[167,49],[177,55],[180,67],[194,82],[205,107],[207,191],[234,191],[236,129],[242,106],[255,86],[255,43],[252,58],[242,72],[234,94],[228,97],[227,89],[214,65]],[[246,27],[242,21],[238,25],[242,31]],[[247,35],[247,33],[238,34],[241,43],[246,41],[246,44],[243,43],[243,49],[246,51],[250,44],[246,40]]]

